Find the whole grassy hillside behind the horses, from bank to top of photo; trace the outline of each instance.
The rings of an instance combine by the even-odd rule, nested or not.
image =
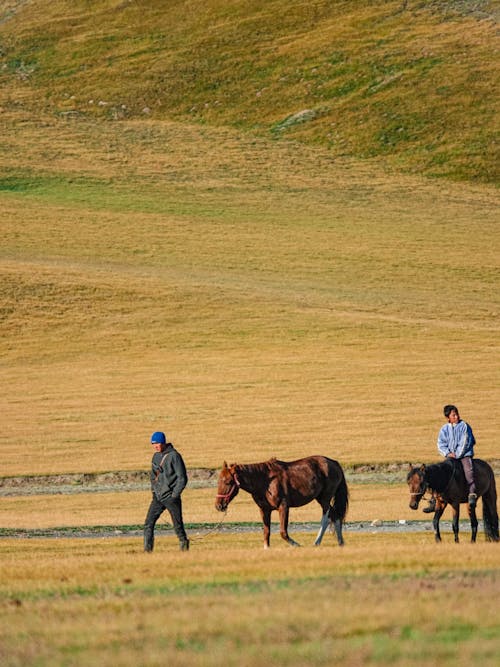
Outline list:
[[[0,7],[2,474],[498,458],[492,3]]]

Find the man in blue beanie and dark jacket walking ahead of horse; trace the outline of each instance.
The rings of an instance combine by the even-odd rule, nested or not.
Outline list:
[[[155,525],[165,510],[172,518],[181,551],[188,551],[189,540],[184,530],[181,500],[181,493],[187,484],[184,460],[161,431],[153,433],[151,445],[155,452],[151,461],[153,497],[144,522],[144,551],[153,551]]]

